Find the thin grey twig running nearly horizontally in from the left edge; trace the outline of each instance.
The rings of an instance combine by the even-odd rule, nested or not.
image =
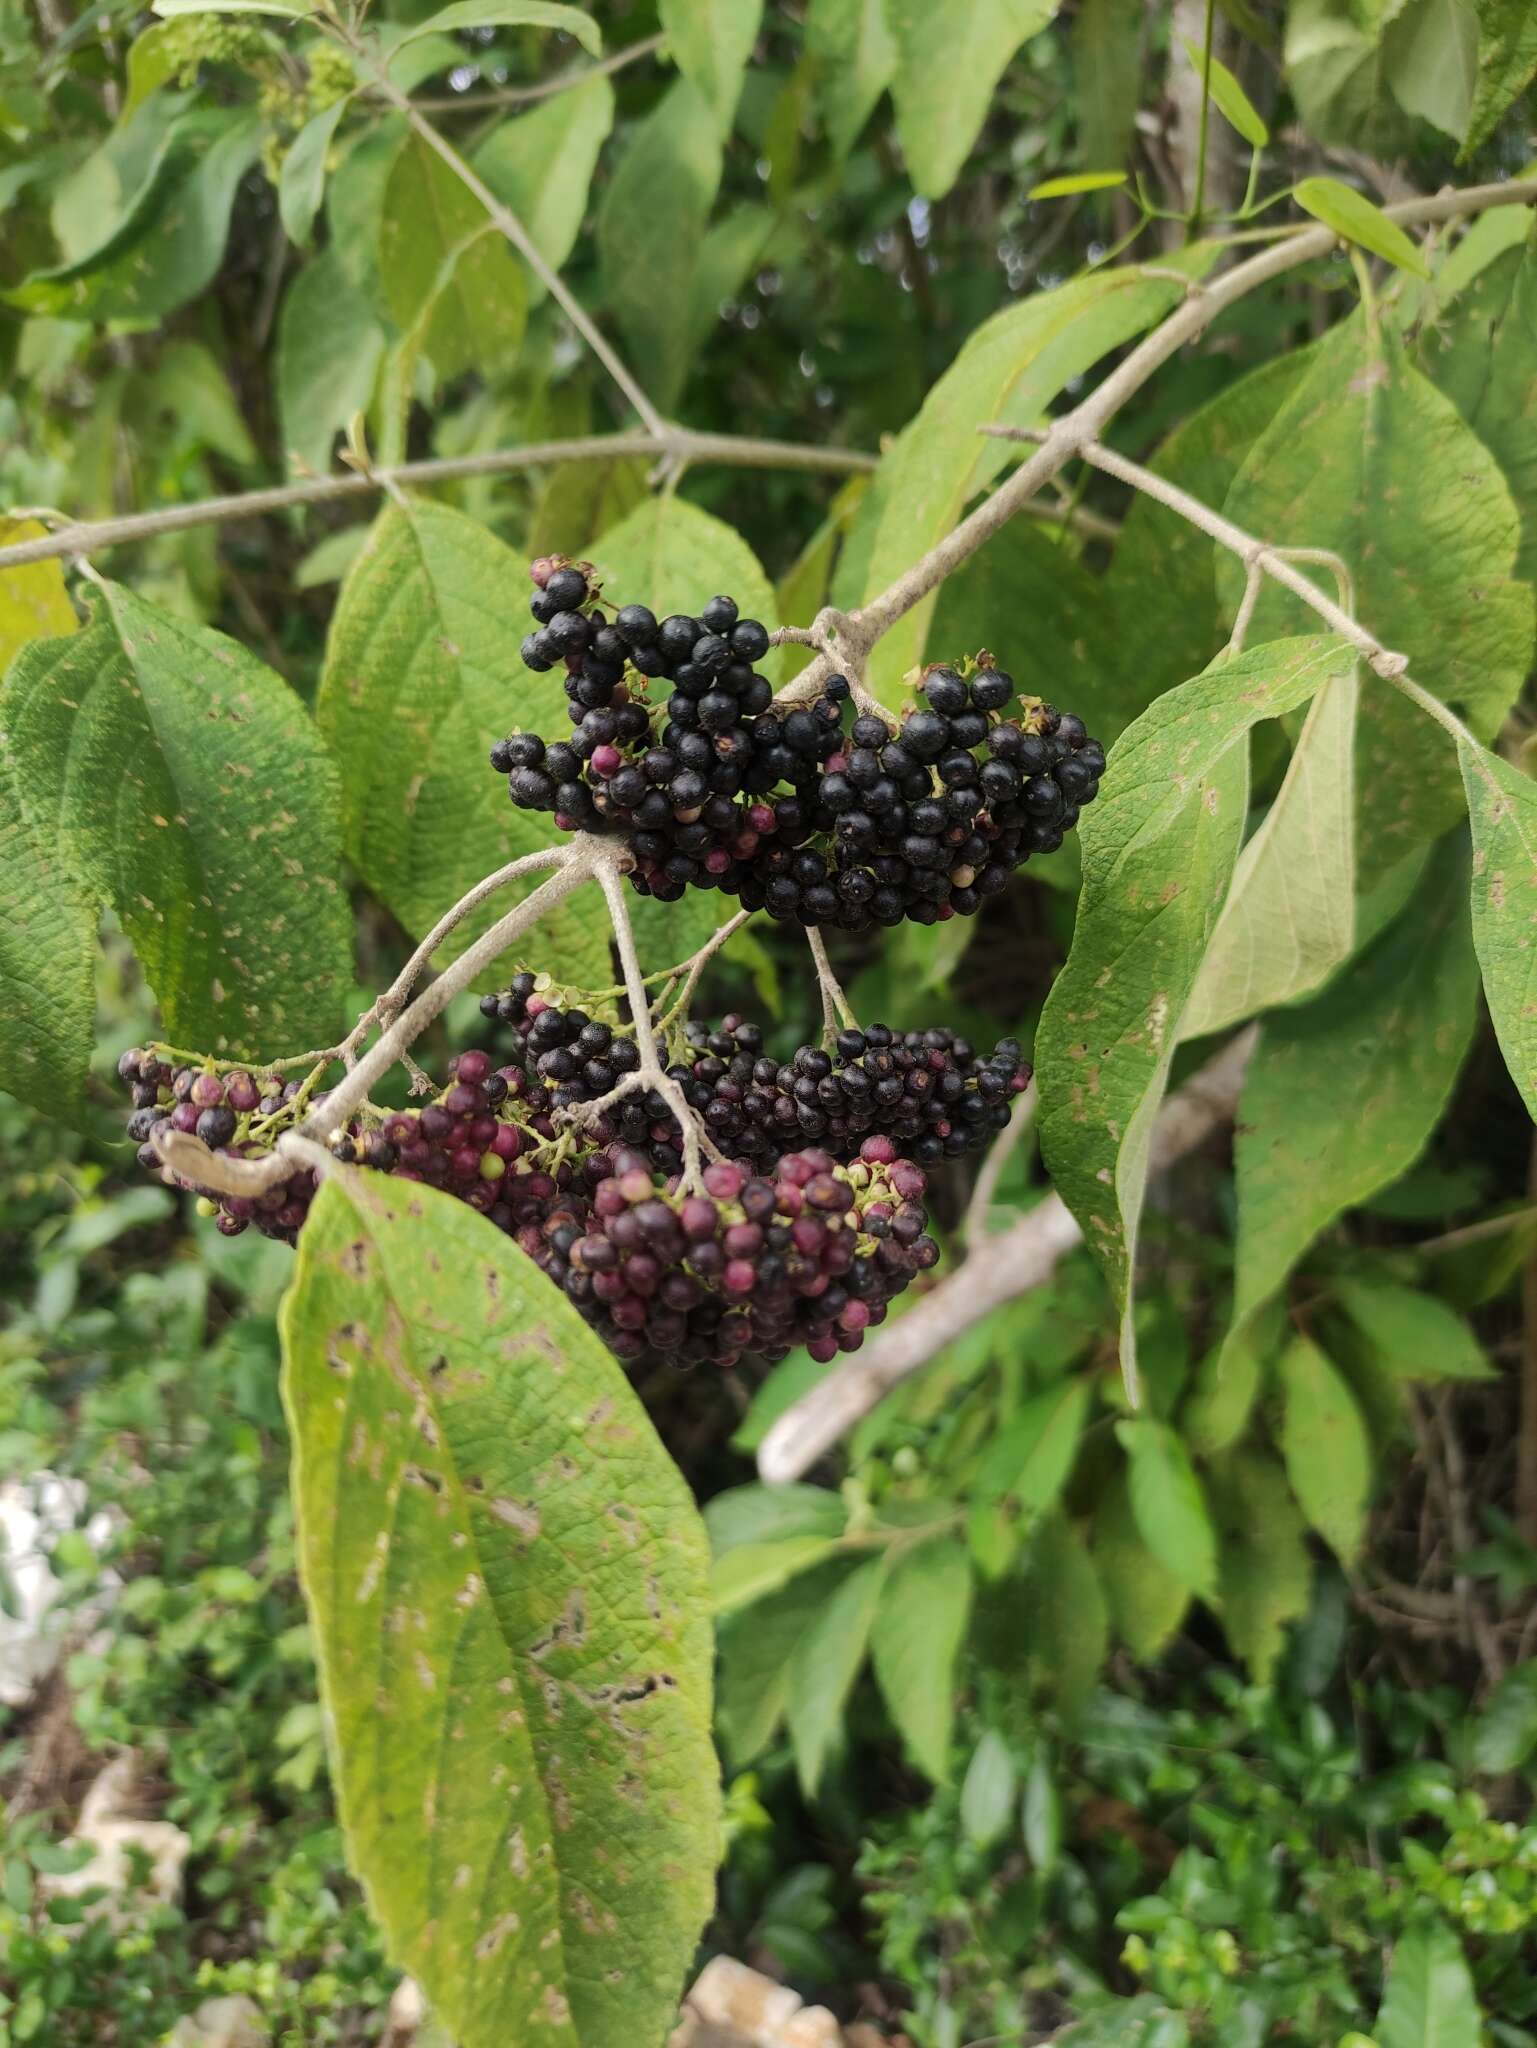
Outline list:
[[[617,455],[658,455],[684,449],[695,463],[740,463],[744,469],[828,469],[834,473],[875,469],[875,457],[859,449],[795,446],[789,440],[752,440],[736,434],[695,434],[687,426],[652,432],[582,434],[574,440],[537,440],[527,449],[486,449],[480,455],[432,457],[422,463],[396,463],[389,469],[346,471],[328,477],[305,477],[301,483],[275,483],[258,492],[232,492],[225,498],[201,498],[186,506],[162,506],[158,512],[125,512],[121,518],[76,520],[37,541],[0,547],[0,569],[18,569],[27,561],[49,561],[55,555],[90,555],[125,541],[146,541],[158,532],[182,526],[227,526],[266,512],[287,512],[291,506],[328,504],[334,498],[367,498],[408,483],[453,483],[457,477],[496,477],[510,469],[543,469],[551,463],[603,463]]]

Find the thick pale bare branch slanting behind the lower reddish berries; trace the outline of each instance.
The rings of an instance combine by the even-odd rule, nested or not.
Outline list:
[[[1232,1038],[1158,1114],[1150,1171],[1195,1151],[1226,1124],[1238,1104],[1258,1032]],[[1047,1194],[1010,1229],[947,1274],[922,1300],[853,1358],[834,1366],[789,1407],[758,1448],[758,1477],[768,1485],[799,1479],[846,1436],[894,1386],[918,1372],[984,1315],[1043,1286],[1076,1245],[1078,1219],[1060,1194]]]

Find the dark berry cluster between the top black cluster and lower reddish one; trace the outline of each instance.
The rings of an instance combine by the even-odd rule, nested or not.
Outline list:
[[[480,1008],[512,1026],[514,1059],[553,1110],[598,1102],[639,1067],[631,1038],[549,1001],[529,973]],[[891,1159],[898,1149],[920,1165],[957,1159],[1008,1122],[1010,1100],[1031,1079],[1014,1038],[982,1057],[951,1030],[883,1024],[840,1032],[832,1053],[803,1044],[781,1063],[764,1057],[758,1026],[738,1016],[717,1030],[689,1024],[684,1057],[668,1073],[719,1149],[758,1165],[807,1143],[848,1161],[871,1137],[887,1141]],[[613,1104],[598,1124],[607,1143],[637,1147],[676,1171],[676,1124],[654,1092]]]

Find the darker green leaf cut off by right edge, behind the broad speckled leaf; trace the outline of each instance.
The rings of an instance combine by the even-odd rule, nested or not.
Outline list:
[[[1480,270],[1420,348],[1426,375],[1510,485],[1521,508],[1517,575],[1537,584],[1537,236]]]

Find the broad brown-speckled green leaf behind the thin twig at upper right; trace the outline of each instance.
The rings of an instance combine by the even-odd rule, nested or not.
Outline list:
[[[1373,342],[1359,317],[1336,328],[1250,451],[1226,510],[1264,541],[1340,555],[1359,616],[1410,655],[1416,682],[1459,707],[1480,737],[1498,729],[1533,651],[1533,596],[1514,575],[1521,516],[1494,457],[1400,342]],[[1236,604],[1242,565],[1223,557],[1217,573]],[[1252,633],[1297,631],[1305,618],[1297,598],[1266,584]],[[1357,797],[1367,883],[1461,815],[1445,739],[1375,678],[1361,698]]]

